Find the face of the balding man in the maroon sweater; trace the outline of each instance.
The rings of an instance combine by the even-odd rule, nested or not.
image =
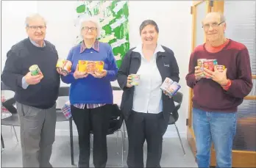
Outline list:
[[[216,13],[210,13],[203,21],[203,28],[206,39],[210,42],[221,40],[224,37],[226,23],[221,23],[220,16]]]

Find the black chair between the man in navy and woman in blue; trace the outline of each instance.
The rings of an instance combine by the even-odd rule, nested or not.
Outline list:
[[[60,97],[68,97],[69,96],[69,87],[60,87],[59,88],[59,95]],[[69,121],[69,137],[70,137],[70,150],[71,150],[71,165],[74,165],[74,143],[73,143],[73,124],[72,124],[72,117],[65,118],[61,109],[56,109],[57,114],[57,122]]]

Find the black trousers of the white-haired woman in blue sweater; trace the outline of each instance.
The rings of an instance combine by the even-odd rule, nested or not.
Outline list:
[[[71,114],[77,125],[79,138],[78,167],[90,166],[90,131],[93,131],[94,167],[106,167],[107,163],[107,128],[109,128],[110,106],[96,109],[78,109],[71,106]]]

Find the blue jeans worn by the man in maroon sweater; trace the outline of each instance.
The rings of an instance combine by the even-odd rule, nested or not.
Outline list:
[[[237,114],[205,112],[193,108],[193,131],[196,136],[198,167],[210,167],[210,147],[216,150],[216,167],[232,167],[232,142]]]

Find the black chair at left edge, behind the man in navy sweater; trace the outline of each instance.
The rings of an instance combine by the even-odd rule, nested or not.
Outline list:
[[[1,82],[1,91],[4,91],[4,90],[13,91],[10,89],[10,87],[7,87],[3,82]],[[17,109],[15,108],[14,98],[10,98],[10,99],[7,99],[7,101],[2,102],[2,106],[4,106],[12,115],[10,117],[1,119],[1,125],[11,126],[13,128],[15,137],[18,142],[18,136],[15,131],[15,126],[21,126],[21,125],[18,120],[18,113],[17,113]],[[2,135],[1,135],[1,145],[4,148],[4,139]]]

